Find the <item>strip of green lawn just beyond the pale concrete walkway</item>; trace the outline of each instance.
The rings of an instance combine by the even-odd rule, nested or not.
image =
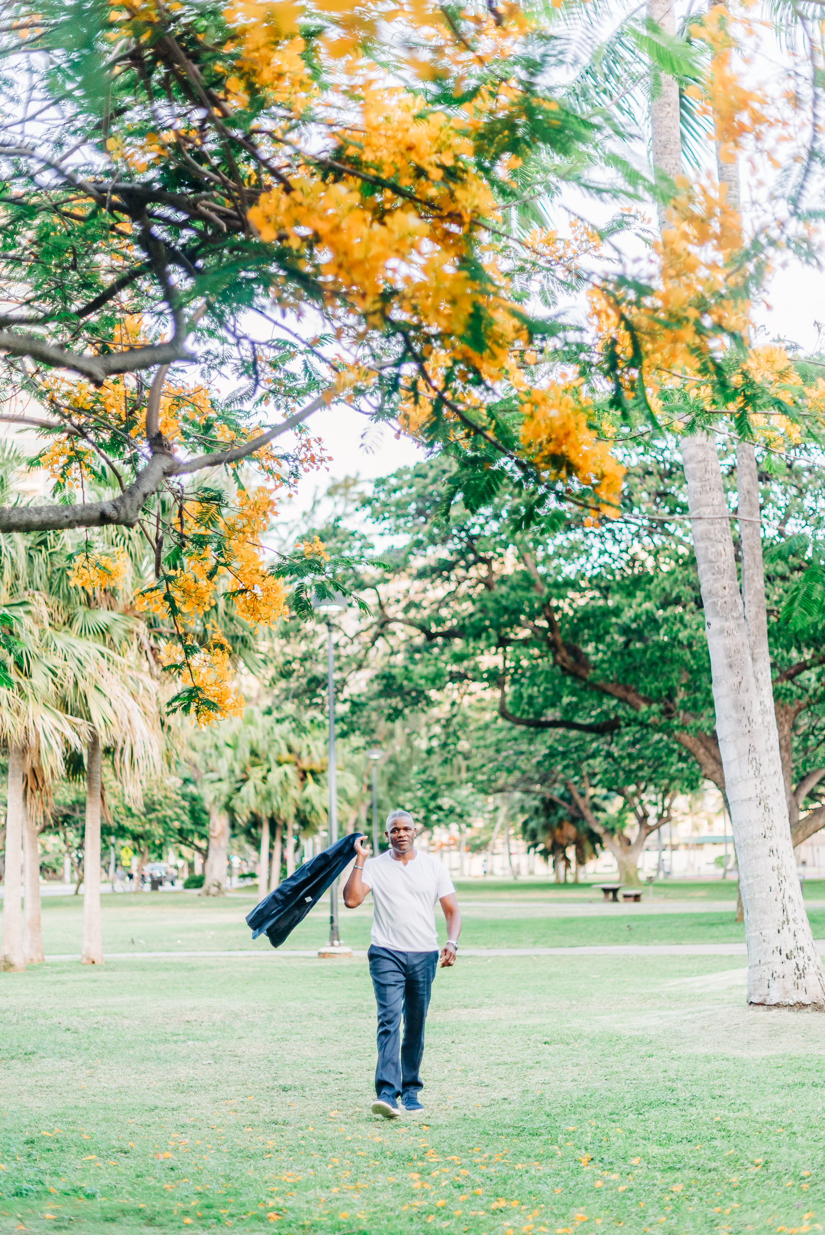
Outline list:
[[[609,905],[604,911],[594,902],[590,916],[553,916],[548,898],[519,902],[511,893],[506,902],[461,894],[462,944],[466,947],[577,947],[593,944],[729,944],[745,940],[745,927],[734,920],[734,902],[722,911],[645,913],[631,905]],[[180,893],[144,893],[101,898],[104,950],[109,952],[153,951],[272,951],[269,941],[253,942],[245,923],[256,903],[247,893],[232,893],[217,902]],[[663,903],[664,904],[664,903]],[[657,902],[650,905],[655,910]],[[589,906],[588,906],[589,908]],[[667,903],[667,908],[676,908]],[[83,902],[78,897],[43,900],[43,939],[47,955],[80,952]],[[442,940],[443,919],[438,913]],[[814,935],[825,937],[825,910],[809,913]],[[317,947],[327,937],[329,909],[325,899],[290,935],[287,948]],[[341,935],[351,947],[369,946],[372,910],[341,905]]]

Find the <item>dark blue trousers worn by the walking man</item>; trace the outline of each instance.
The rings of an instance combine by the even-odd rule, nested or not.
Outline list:
[[[424,1023],[438,953],[394,952],[373,944],[367,956],[378,1004],[375,1093],[379,1098],[393,1099],[399,1094],[417,1094],[424,1088],[419,1076],[424,1056]]]

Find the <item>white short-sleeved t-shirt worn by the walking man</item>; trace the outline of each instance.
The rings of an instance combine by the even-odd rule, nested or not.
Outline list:
[[[445,867],[415,851],[411,862],[396,862],[387,850],[364,862],[362,882],[373,894],[372,941],[395,952],[438,948],[435,908],[456,889]]]

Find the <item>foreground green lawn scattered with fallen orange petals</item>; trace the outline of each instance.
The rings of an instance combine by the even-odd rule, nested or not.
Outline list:
[[[173,899],[112,898],[106,935],[217,936],[246,900]],[[615,925],[541,925],[571,923]],[[0,1231],[821,1230],[825,1019],[743,995],[732,957],[463,957],[425,1115],[384,1124],[363,961],[0,974]]]

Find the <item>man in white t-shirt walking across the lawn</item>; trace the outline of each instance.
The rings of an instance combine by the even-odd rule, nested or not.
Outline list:
[[[356,841],[356,865],[343,889],[343,903],[347,909],[356,909],[372,890],[374,918],[367,955],[378,1004],[373,1114],[396,1119],[401,1109],[424,1110],[419,1102],[422,1089],[419,1070],[424,1056],[424,1023],[438,963],[436,900],[441,902],[447,920],[442,968],[456,963],[461,914],[456,889],[445,867],[412,844],[412,816],[406,810],[390,811],[384,835],[389,850],[369,858],[362,841]]]

